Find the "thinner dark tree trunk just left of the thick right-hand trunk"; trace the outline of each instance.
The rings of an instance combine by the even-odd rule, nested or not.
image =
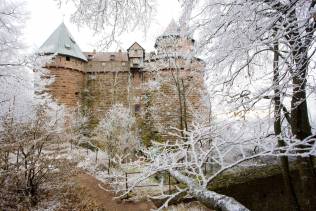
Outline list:
[[[274,89],[274,133],[278,136],[278,146],[285,146],[284,141],[281,138],[281,95],[279,89],[279,43],[275,41],[273,44],[274,58],[273,58],[273,89]],[[280,157],[280,165],[282,170],[283,182],[286,195],[289,200],[291,210],[299,211],[299,203],[293,183],[291,180],[289,161],[287,156]]]

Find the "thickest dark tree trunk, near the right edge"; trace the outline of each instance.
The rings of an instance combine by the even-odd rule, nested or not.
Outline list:
[[[315,1],[312,4],[314,5]],[[302,33],[302,28],[298,24],[297,11],[295,7],[293,8],[288,9],[288,21],[284,25],[287,32],[285,38],[291,48],[295,67],[291,72],[293,82],[291,130],[295,138],[304,140],[312,135],[306,102],[306,75],[309,64],[308,49],[314,39],[315,20],[306,22],[308,24],[304,28],[306,34]],[[298,158],[298,169],[302,186],[301,208],[302,210],[316,210],[316,183],[309,157]]]

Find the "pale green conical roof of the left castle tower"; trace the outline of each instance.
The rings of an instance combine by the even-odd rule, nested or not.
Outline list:
[[[71,36],[64,23],[50,35],[50,37],[40,47],[39,53],[59,54],[71,56],[83,61],[87,61],[85,55],[81,52],[74,38]]]

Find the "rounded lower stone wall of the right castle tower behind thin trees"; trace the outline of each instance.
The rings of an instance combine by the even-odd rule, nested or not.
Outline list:
[[[147,91],[155,128],[167,137],[171,128],[189,129],[195,113],[204,108],[203,74],[188,70],[169,70],[160,72],[156,81],[159,88]]]

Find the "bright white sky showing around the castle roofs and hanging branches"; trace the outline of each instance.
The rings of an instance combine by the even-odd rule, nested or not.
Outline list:
[[[147,37],[145,38],[141,31],[124,35],[120,40],[122,50],[126,51],[137,41],[147,52],[152,51],[155,38],[164,31],[172,18],[177,20],[180,12],[178,0],[157,0],[157,2],[156,20],[148,30]],[[63,20],[82,51],[92,51],[95,48],[92,31],[87,28],[78,29],[75,24],[70,23],[69,17],[73,8],[59,9],[54,0],[26,0],[26,3],[30,18],[25,28],[25,43],[29,49],[38,49]]]

